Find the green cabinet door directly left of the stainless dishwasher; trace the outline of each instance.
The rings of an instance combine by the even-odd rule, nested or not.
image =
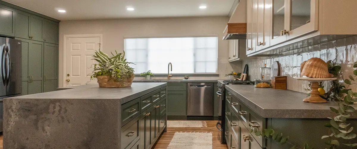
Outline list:
[[[167,91],[167,115],[187,115],[187,92]]]

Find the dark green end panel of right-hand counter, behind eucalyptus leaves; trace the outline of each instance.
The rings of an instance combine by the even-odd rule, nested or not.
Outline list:
[[[272,128],[275,132],[282,133],[283,136],[289,136],[288,142],[303,148],[304,143],[308,143],[312,148],[328,148],[324,143],[329,139],[321,139],[321,136],[330,135],[332,131],[325,127],[330,119],[297,119],[297,118],[270,118],[267,120],[267,128]],[[347,119],[347,124],[356,128],[357,119]],[[348,127],[350,128],[350,127]],[[352,131],[356,132],[356,131]],[[252,133],[252,135],[255,135]],[[333,139],[336,139],[333,137]],[[331,140],[331,139],[330,139]],[[352,144],[357,142],[357,138],[351,140],[337,139],[341,143]],[[286,143],[281,145],[271,138],[267,140],[267,149],[290,149],[291,144]],[[341,144],[341,148],[348,148]]]

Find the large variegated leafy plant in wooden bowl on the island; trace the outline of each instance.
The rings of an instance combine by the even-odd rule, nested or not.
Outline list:
[[[134,68],[131,68],[124,59],[125,51],[123,53],[117,53],[115,55],[108,56],[102,51],[95,51],[93,60],[96,60],[99,64],[94,64],[93,74],[91,79],[97,78],[99,87],[102,88],[121,88],[130,87],[134,80]]]

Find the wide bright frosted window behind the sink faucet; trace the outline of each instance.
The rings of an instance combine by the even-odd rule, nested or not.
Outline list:
[[[172,63],[172,73],[217,73],[218,38],[136,38],[125,39],[125,58],[139,74],[151,70],[167,74]],[[171,72],[170,72],[171,73]]]

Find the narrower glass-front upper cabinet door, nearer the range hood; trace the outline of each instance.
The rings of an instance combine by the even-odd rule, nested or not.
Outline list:
[[[272,0],[270,46],[282,43],[287,39],[287,35],[283,34],[287,24],[286,7],[286,0]]]

